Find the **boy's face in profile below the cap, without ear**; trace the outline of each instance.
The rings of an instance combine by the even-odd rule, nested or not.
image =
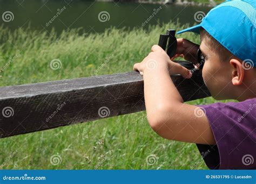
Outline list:
[[[228,87],[232,85],[231,66],[228,61],[220,61],[217,53],[201,41],[200,49],[206,57],[203,79],[211,95],[217,100],[230,98]]]

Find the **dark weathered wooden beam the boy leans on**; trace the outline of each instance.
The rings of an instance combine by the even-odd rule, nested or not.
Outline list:
[[[210,96],[201,72],[171,76],[184,101]],[[171,103],[171,102],[170,102]],[[145,110],[138,72],[0,88],[0,138]]]

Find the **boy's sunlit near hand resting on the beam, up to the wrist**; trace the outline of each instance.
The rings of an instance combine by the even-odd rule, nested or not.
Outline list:
[[[190,78],[192,73],[187,68],[171,61],[169,55],[158,45],[153,45],[149,55],[140,63],[135,63],[133,70],[139,71],[141,75],[146,70],[165,70],[170,74],[181,74],[184,78]]]

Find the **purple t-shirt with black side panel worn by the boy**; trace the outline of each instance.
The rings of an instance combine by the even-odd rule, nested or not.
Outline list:
[[[210,169],[256,169],[256,98],[197,105],[210,122],[216,145],[197,144]]]

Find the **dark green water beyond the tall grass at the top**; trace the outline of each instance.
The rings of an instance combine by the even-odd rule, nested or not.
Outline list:
[[[194,20],[196,12],[207,13],[210,9],[199,6],[75,0],[0,0],[0,24],[8,26],[11,30],[28,27],[30,24],[32,29],[42,31],[49,31],[54,27],[58,33],[76,27],[83,27],[89,32],[102,32],[110,26],[147,28],[149,25],[176,22],[177,18],[181,24],[193,25],[197,23]],[[10,11],[12,15],[9,12],[9,19],[4,18],[7,20],[4,22],[3,14],[6,11]],[[103,15],[99,18],[100,12]],[[152,14],[154,16],[150,18]],[[150,21],[145,23],[147,19]]]

